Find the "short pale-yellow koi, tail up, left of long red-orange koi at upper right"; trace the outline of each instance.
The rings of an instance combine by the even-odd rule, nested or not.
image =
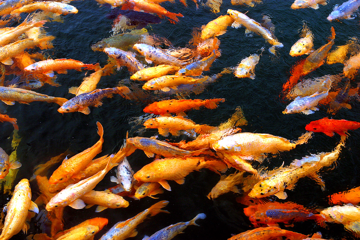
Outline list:
[[[303,0],[298,0],[303,1]],[[302,31],[301,31],[301,39],[297,40],[294,45],[292,45],[290,49],[290,56],[301,56],[303,54],[309,55],[313,53],[315,50],[312,48],[314,46],[314,35],[310,28],[306,25],[305,21],[302,24]]]

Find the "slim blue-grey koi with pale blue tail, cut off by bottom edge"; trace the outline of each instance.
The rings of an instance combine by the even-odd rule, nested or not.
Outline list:
[[[165,227],[157,232],[155,232],[150,237],[145,236],[143,240],[160,240],[160,239],[166,239],[170,240],[173,239],[177,234],[182,233],[186,227],[189,225],[196,225],[199,226],[195,221],[197,219],[205,219],[206,215],[205,213],[199,213],[196,215],[193,219],[191,219],[189,222],[179,222],[173,225],[170,225],[168,227]]]

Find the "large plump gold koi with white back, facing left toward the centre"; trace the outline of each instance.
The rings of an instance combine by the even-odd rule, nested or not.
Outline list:
[[[306,143],[310,138],[309,132],[304,133],[294,142],[266,133],[240,132],[222,137],[212,144],[211,148],[215,151],[236,154],[242,159],[262,161],[265,153],[276,154],[279,151],[290,151],[297,145]]]

